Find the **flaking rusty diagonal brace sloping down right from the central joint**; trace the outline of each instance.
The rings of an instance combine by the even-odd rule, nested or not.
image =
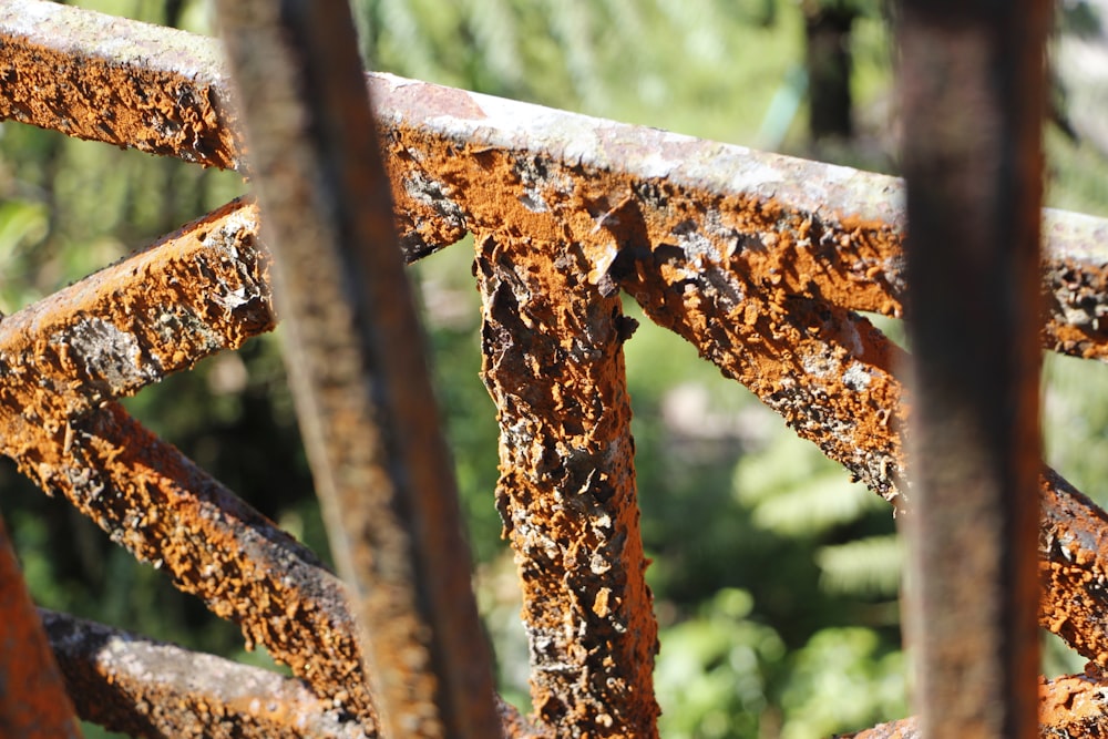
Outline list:
[[[901,435],[913,403],[893,374],[906,356],[866,319],[807,298],[767,300],[721,255],[665,244],[625,254],[615,281],[655,322],[897,510],[915,507]],[[1049,469],[1042,469],[1039,500],[1039,623],[1108,666],[1108,514]]]

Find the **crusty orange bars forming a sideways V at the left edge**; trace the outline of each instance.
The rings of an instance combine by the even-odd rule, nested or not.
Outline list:
[[[256,212],[232,204],[0,321],[0,452],[370,720],[347,595],[307,548],[109,399],[273,327]]]

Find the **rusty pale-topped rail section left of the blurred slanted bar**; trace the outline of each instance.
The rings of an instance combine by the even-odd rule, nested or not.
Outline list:
[[[219,60],[197,37],[53,3],[0,8],[0,120],[238,165],[220,110]]]

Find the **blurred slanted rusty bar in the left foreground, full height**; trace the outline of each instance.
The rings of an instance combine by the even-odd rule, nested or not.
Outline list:
[[[287,311],[286,363],[386,736],[500,733],[349,7],[217,3]]]

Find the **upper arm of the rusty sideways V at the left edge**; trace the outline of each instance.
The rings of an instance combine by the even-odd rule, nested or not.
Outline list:
[[[235,201],[0,321],[0,414],[61,419],[275,326],[257,209]],[[8,409],[7,411],[2,409]],[[19,449],[18,439],[6,439]]]

